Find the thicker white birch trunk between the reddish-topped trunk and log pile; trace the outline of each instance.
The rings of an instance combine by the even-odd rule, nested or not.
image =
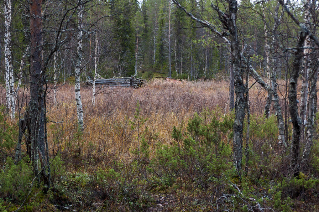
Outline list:
[[[81,89],[80,89],[80,70],[82,63],[82,33],[83,33],[83,5],[82,0],[79,0],[80,6],[78,7],[78,38],[77,38],[77,63],[75,66],[75,101],[77,104],[77,113],[78,113],[78,127],[83,130],[83,109],[81,101]]]

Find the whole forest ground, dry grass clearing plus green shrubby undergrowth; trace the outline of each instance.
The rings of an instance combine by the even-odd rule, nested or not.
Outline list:
[[[263,116],[267,93],[258,84],[249,93],[250,137],[243,144],[243,157],[249,158],[243,158],[246,171],[238,178],[228,84],[154,80],[138,89],[100,87],[94,106],[92,89],[83,86],[83,132],[77,127],[74,85],[58,87],[57,106],[49,89],[52,189],[43,194],[41,185],[30,185],[27,159],[8,162],[15,142],[0,145],[0,180],[7,186],[0,186],[0,211],[20,206],[22,211],[319,211],[319,143],[315,140],[311,161],[293,177],[289,149],[278,145],[276,116]],[[278,84],[288,121],[285,82]],[[0,101],[5,104],[4,91]],[[15,141],[16,124],[2,116],[7,124],[1,128],[11,127]],[[247,122],[244,128],[246,138]],[[291,138],[291,126],[288,131]]]

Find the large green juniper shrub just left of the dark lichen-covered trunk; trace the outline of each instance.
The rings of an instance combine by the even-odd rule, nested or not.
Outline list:
[[[159,144],[150,164],[153,182],[161,189],[207,188],[232,169],[233,117],[204,110],[189,120],[186,131],[173,128],[173,145]],[[200,183],[198,183],[200,182]]]

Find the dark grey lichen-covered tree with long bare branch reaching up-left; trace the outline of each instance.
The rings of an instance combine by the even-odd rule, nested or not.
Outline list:
[[[234,67],[234,90],[236,94],[235,100],[235,120],[233,127],[233,157],[234,165],[237,169],[238,175],[241,176],[241,160],[242,160],[242,138],[243,138],[243,121],[245,117],[245,93],[246,88],[243,82],[244,69],[242,65],[242,55],[240,49],[240,43],[238,38],[238,29],[237,29],[237,9],[238,4],[236,0],[228,1],[228,13],[219,10],[217,6],[211,4],[211,7],[217,11],[219,21],[222,23],[223,27],[229,32],[229,39],[225,36],[225,33],[220,33],[217,30],[217,27],[212,25],[207,20],[202,20],[196,18],[192,13],[188,12],[183,8],[176,0],[173,2],[182,9],[190,18],[197,21],[203,26],[208,27],[213,33],[219,35],[223,40],[226,41],[231,47],[232,55],[232,65]]]

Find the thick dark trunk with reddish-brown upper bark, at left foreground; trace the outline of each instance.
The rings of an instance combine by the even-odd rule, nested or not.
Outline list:
[[[45,73],[42,70],[42,0],[33,0],[30,2],[30,31],[31,31],[31,57],[30,57],[30,102],[29,117],[31,126],[31,144],[32,161],[35,176],[38,176],[39,165],[41,162],[41,181],[50,187],[50,174],[48,169],[47,143],[45,142],[45,115],[44,115],[44,97],[43,85],[45,83]],[[40,176],[39,176],[40,180]]]

